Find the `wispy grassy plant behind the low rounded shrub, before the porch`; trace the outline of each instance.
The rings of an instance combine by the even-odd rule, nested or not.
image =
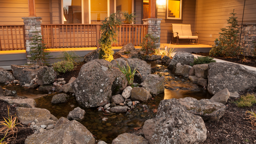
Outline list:
[[[81,57],[79,57],[79,55],[76,55],[76,53],[74,51],[67,52],[67,51],[64,50],[57,57],[58,58],[56,58],[56,59],[69,61],[69,62],[72,62],[74,64],[78,63],[81,60]]]

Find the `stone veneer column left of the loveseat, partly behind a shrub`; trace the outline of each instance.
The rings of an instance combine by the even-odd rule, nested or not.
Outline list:
[[[160,34],[161,34],[161,20],[160,18],[146,18],[143,19],[143,24],[148,25],[148,34],[154,37],[159,37],[158,46],[160,47]]]

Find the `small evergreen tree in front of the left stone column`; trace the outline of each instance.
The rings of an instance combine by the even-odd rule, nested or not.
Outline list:
[[[49,55],[49,52],[46,50],[46,47],[44,43],[42,43],[43,39],[42,39],[42,35],[38,35],[38,33],[41,31],[35,31],[32,32],[33,33],[33,38],[30,40],[33,40],[32,43],[30,43],[32,45],[31,49],[32,51],[29,52],[29,54],[31,55],[31,57],[29,57],[28,59],[31,60],[31,64],[38,64],[40,66],[44,66],[47,65],[47,58],[50,58],[51,56]]]

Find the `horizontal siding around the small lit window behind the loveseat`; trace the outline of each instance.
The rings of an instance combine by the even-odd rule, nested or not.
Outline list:
[[[161,18],[160,43],[170,43],[172,39],[172,23],[190,24],[192,32],[195,32],[195,3],[196,0],[183,0],[182,20],[166,19],[166,3],[157,5],[157,18]]]

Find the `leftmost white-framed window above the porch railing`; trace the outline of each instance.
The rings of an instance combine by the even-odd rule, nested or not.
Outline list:
[[[63,0],[64,23],[82,23],[81,0]]]

